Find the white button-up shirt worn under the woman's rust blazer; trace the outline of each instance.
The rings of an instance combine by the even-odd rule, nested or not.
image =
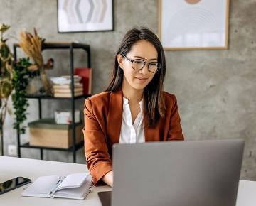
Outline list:
[[[139,102],[140,112],[132,124],[132,113],[128,104],[129,100],[123,97],[122,125],[119,143],[145,142],[142,100]]]

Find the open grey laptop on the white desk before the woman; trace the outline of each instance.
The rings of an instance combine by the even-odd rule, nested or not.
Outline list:
[[[244,140],[113,146],[114,183],[103,206],[235,206]]]

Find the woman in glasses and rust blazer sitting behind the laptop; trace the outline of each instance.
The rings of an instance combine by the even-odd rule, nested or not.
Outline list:
[[[176,97],[163,92],[166,60],[148,28],[126,33],[110,85],[85,100],[85,156],[92,180],[113,184],[112,145],[183,140]]]

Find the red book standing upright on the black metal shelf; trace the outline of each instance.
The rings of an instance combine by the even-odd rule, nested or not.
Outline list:
[[[83,94],[92,94],[92,69],[75,68],[74,75],[82,77],[80,83],[83,85]]]

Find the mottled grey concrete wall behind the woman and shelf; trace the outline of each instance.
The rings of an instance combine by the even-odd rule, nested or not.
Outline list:
[[[256,0],[230,0],[228,50],[193,50],[166,52],[165,90],[176,94],[186,139],[245,139],[242,178],[256,180]],[[110,77],[113,55],[124,33],[133,26],[148,26],[157,32],[158,1],[114,0],[114,31],[90,33],[58,33],[57,1],[0,0],[0,22],[11,25],[9,44],[16,42],[22,29],[33,27],[46,40],[78,40],[91,45],[93,93],[101,92]],[[67,72],[68,57],[62,51],[45,53],[55,59],[49,75]],[[78,65],[82,57],[78,54]],[[36,101],[30,101],[28,121],[38,117]],[[82,110],[83,102],[78,102]],[[43,102],[43,116],[53,110],[68,107],[60,102]],[[7,116],[7,144],[16,143],[12,129],[13,116]],[[25,142],[28,135],[22,136]],[[22,149],[22,156],[39,158],[39,151]],[[48,151],[45,158],[70,161],[71,154]],[[78,151],[78,163],[84,163],[83,151]]]

